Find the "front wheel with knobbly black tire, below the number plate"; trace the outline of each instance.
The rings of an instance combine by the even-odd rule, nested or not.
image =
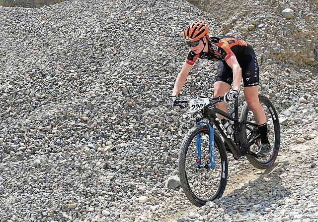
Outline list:
[[[202,164],[209,164],[209,131],[206,125],[198,125],[185,135],[179,154],[178,171],[181,187],[188,200],[197,207],[220,198],[228,179],[228,161],[224,144],[214,132],[215,164],[213,169],[196,167],[196,135],[201,135]],[[202,181],[200,180],[202,179]]]

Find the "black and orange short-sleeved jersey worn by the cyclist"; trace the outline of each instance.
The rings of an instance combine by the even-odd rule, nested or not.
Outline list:
[[[197,58],[227,61],[231,56],[244,55],[246,49],[247,43],[241,39],[229,35],[212,36],[209,41],[209,52],[195,54],[190,50],[186,63],[193,65]]]

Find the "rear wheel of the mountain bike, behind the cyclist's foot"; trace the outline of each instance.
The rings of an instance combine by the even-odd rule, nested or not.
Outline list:
[[[280,146],[280,125],[279,125],[279,118],[278,118],[277,112],[273,104],[270,102],[270,100],[263,95],[259,95],[258,98],[259,98],[259,102],[261,106],[263,107],[265,111],[265,115],[267,118],[268,139],[271,144],[272,150],[271,150],[271,153],[266,158],[255,158],[249,155],[246,155],[246,158],[252,166],[258,169],[266,169],[275,162],[278,156],[278,151]],[[244,103],[242,107],[240,119],[255,123],[253,112],[250,110],[246,102]],[[257,131],[258,133],[257,128],[255,128],[254,131]],[[248,127],[246,126],[246,124],[242,124],[241,137],[240,137],[242,143],[246,143],[246,141],[248,140],[248,137],[250,136],[249,135],[250,132],[251,131],[248,130]],[[257,153],[259,149],[260,149],[260,140],[255,142],[250,147],[250,150],[253,151],[254,153]]]

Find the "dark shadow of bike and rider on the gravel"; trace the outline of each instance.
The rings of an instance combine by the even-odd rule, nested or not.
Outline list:
[[[214,203],[229,216],[234,215],[235,217],[236,214],[244,214],[244,212],[268,214],[273,205],[283,205],[284,199],[291,196],[291,191],[282,185],[282,178],[285,177],[288,165],[287,160],[276,161],[256,177],[246,181],[241,187],[232,190],[226,196],[215,200]],[[256,168],[254,170],[260,171]]]

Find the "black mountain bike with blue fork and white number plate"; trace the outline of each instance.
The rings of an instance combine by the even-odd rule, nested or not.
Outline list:
[[[260,134],[246,101],[240,116],[238,98],[235,98],[234,108],[229,113],[216,107],[217,103],[223,101],[224,97],[199,96],[175,102],[180,108],[189,104],[188,109],[196,118],[196,125],[183,138],[178,172],[185,195],[198,207],[223,195],[228,179],[227,152],[232,153],[235,160],[246,157],[252,166],[265,169],[275,162],[279,151],[279,119],[267,97],[259,95],[259,102],[267,118],[268,139],[272,147],[266,157],[257,155],[261,145]],[[221,123],[218,114],[229,119],[232,134]]]

